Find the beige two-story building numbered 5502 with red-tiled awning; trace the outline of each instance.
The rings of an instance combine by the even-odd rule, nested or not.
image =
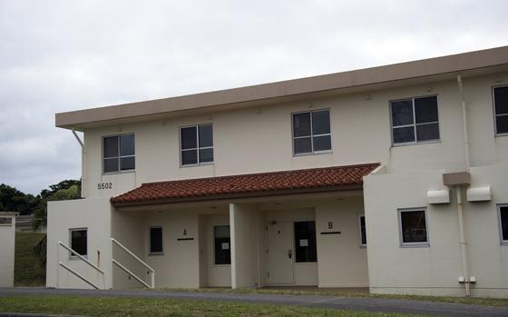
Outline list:
[[[48,287],[508,296],[508,46],[56,126],[83,199],[49,203]]]

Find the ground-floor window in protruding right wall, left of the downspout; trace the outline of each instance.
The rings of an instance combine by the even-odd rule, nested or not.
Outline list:
[[[402,245],[428,245],[425,208],[399,210]]]

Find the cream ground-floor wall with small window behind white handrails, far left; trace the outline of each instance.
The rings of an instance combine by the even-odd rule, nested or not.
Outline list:
[[[58,259],[101,288],[112,287],[111,219],[112,207],[106,198],[48,202],[47,287],[92,288],[71,272],[59,267]],[[87,258],[105,272],[104,278],[83,261],[69,258],[69,252],[57,246],[59,241],[71,244],[69,230],[72,228],[88,229]]]

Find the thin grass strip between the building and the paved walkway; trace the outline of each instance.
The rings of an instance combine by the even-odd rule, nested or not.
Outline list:
[[[233,292],[233,293],[260,293],[260,294],[287,294],[287,295],[329,295],[339,297],[368,297],[368,298],[391,298],[410,301],[425,302],[454,302],[484,306],[508,307],[508,298],[476,298],[476,297],[443,297],[443,296],[423,296],[423,295],[392,295],[392,294],[371,294],[367,292],[344,292],[337,290],[288,290],[288,289],[230,289],[230,288],[203,288],[203,289],[159,289],[159,291],[174,292]]]

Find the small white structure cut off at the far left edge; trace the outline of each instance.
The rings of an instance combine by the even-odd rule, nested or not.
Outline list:
[[[0,287],[15,285],[15,213],[0,213]]]

